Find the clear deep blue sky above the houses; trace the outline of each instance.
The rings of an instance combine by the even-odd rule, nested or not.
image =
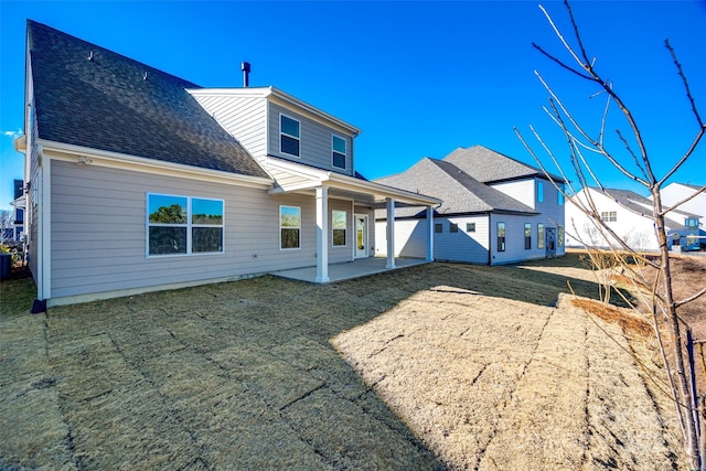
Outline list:
[[[23,172],[11,138],[23,132],[26,19],[204,87],[242,86],[239,65],[248,61],[252,86],[274,85],[361,128],[356,170],[374,179],[474,144],[534,163],[513,132],[516,126],[531,138],[530,125],[568,168],[534,71],[591,132],[605,103],[589,99],[593,88],[532,47],[534,41],[566,57],[537,4],[0,0],[0,208],[9,207],[12,179]],[[543,4],[569,33],[563,3]],[[666,171],[697,125],[664,39],[706,117],[706,1],[576,1],[573,8],[597,68],[633,111],[655,170]],[[629,130],[611,120],[608,129],[616,128]],[[606,165],[596,170],[607,186],[639,191]],[[673,180],[706,184],[706,142]]]

